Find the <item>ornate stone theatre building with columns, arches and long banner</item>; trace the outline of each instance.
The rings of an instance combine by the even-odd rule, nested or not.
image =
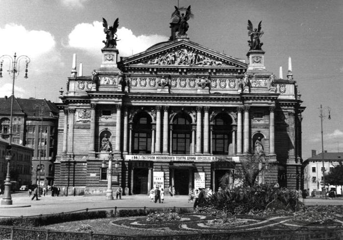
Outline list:
[[[111,145],[118,163],[112,182],[126,194],[155,186],[175,186],[177,194],[217,190],[226,172],[231,181],[240,175],[241,160],[259,142],[265,161],[276,164],[259,180],[302,188],[304,107],[291,61],[287,79],[277,79],[263,50],[233,58],[176,36],[178,24],[171,23],[170,41],[119,62],[115,44],[101,49],[92,76],[76,76],[74,56],[57,105],[55,184],[74,194],[103,193]]]

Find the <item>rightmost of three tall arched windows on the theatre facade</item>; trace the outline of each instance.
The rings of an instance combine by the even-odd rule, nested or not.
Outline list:
[[[227,155],[231,139],[232,120],[229,115],[220,113],[213,120],[212,154]]]

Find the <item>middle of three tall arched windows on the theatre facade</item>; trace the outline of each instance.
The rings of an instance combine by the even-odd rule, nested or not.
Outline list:
[[[192,119],[185,113],[174,117],[172,124],[172,153],[189,154],[191,149]]]

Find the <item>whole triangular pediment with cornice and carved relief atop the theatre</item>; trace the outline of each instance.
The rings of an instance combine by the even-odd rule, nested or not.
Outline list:
[[[241,60],[185,40],[157,44],[144,52],[125,58],[122,64],[151,67],[247,67]]]

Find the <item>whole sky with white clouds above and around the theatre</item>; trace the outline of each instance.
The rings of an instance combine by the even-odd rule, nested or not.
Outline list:
[[[83,75],[101,64],[102,18],[119,18],[120,56],[130,56],[168,40],[174,5],[191,5],[190,40],[235,58],[246,58],[247,20],[262,21],[265,65],[286,78],[292,58],[303,106],[302,157],[321,152],[319,106],[323,106],[324,150],[343,152],[342,0],[0,0],[0,55],[27,55],[15,81],[15,96],[58,101],[66,89],[73,53]],[[3,64],[0,97],[11,95]],[[77,69],[78,70],[78,69]],[[328,108],[329,107],[329,108]],[[328,117],[330,109],[331,120]]]

